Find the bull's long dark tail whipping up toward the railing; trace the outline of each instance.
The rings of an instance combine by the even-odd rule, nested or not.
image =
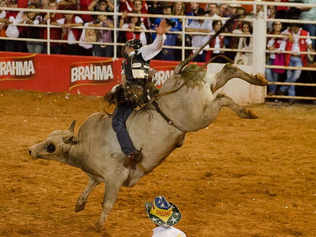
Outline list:
[[[233,17],[231,17],[229,20],[226,21],[226,23],[222,26],[222,28],[215,33],[212,37],[209,38],[209,40],[207,42],[205,42],[193,55],[189,56],[188,58],[186,58],[185,60],[183,60],[182,62],[180,62],[175,68],[174,68],[174,73],[175,74],[179,74],[182,71],[182,68],[185,67],[191,60],[193,60],[200,51],[203,50],[203,48],[209,44],[210,42],[212,42],[219,34],[223,33],[225,31],[226,28],[228,28],[231,23],[236,20],[236,19],[240,19],[241,16],[246,16],[246,15],[251,15],[254,16],[254,14],[252,13],[248,13],[248,14],[239,14],[239,15],[235,15]]]

